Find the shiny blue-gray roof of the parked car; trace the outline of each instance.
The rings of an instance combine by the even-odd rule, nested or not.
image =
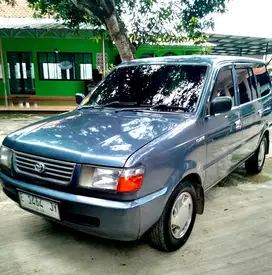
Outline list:
[[[243,57],[243,56],[224,56],[224,55],[184,55],[184,56],[164,56],[135,59],[132,61],[122,62],[121,66],[158,64],[158,63],[189,63],[189,64],[208,64],[215,65],[221,62],[241,62],[241,63],[261,63],[265,64],[263,60]]]

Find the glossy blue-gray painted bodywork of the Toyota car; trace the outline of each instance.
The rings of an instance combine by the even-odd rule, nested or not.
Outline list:
[[[112,203],[110,207],[94,205],[88,197],[82,205],[88,213],[95,210],[101,215],[102,227],[87,228],[88,232],[115,239],[136,239],[159,219],[172,191],[186,176],[196,175],[203,190],[207,190],[256,150],[269,126],[271,92],[256,102],[233,106],[227,114],[207,116],[204,113],[218,70],[222,66],[233,66],[234,62],[261,63],[260,60],[249,58],[212,56],[153,58],[123,63],[121,66],[149,63],[207,65],[207,79],[196,113],[75,110],[15,132],[3,144],[15,150],[79,164],[111,167],[143,165],[143,185],[134,200],[138,200],[136,212],[131,204],[127,204],[125,212],[116,211],[114,203],[123,199],[118,194],[116,201],[107,201],[107,205]],[[258,108],[263,112],[262,116],[256,117]],[[247,120],[250,116],[253,119]],[[239,120],[241,127],[237,128],[236,122]],[[95,131],[91,130],[91,125],[95,125]],[[139,134],[141,132],[142,136]],[[9,180],[3,172],[0,177],[5,188],[14,189],[19,184],[13,179]],[[21,186],[38,194],[48,194],[49,197],[71,201],[76,199],[68,198],[65,194],[50,193],[46,188],[37,190],[35,185]],[[103,199],[103,192],[98,196]],[[101,214],[105,213],[104,208],[107,209],[106,215]],[[115,211],[108,211],[108,208]],[[119,219],[121,216],[130,217],[129,221],[133,219],[133,224],[125,224],[124,220]],[[122,225],[123,232],[120,232]],[[77,228],[83,230],[79,226]]]

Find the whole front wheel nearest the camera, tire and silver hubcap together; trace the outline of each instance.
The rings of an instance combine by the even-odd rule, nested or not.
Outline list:
[[[181,183],[170,196],[162,216],[149,232],[151,245],[175,251],[188,240],[196,218],[196,192],[190,182]]]

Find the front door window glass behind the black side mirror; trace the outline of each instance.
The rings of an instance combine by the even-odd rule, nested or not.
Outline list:
[[[232,98],[232,106],[234,106],[234,88],[232,71],[229,67],[220,69],[211,95],[212,101],[218,96],[229,96]]]

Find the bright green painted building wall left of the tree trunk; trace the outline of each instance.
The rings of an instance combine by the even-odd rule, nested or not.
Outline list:
[[[4,63],[7,79],[7,61],[6,53],[32,52],[32,58],[35,68],[35,88],[37,96],[73,96],[77,92],[84,92],[84,81],[62,81],[62,80],[39,80],[37,52],[85,52],[92,53],[92,63],[96,67],[96,53],[102,53],[102,43],[100,41],[85,39],[31,39],[31,38],[14,38],[2,39],[2,47],[4,54]],[[106,42],[106,53],[110,57],[108,42]],[[0,96],[3,95],[3,84],[0,88]],[[9,91],[9,82],[7,79],[7,91]]]

